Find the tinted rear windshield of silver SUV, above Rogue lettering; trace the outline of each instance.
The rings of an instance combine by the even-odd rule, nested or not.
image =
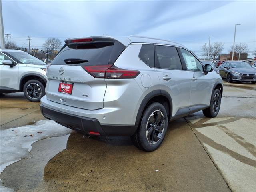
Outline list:
[[[113,44],[106,44],[106,46],[100,48],[92,47],[84,46],[84,48],[81,48],[80,46],[79,49],[76,49],[64,45],[52,61],[52,65],[66,65],[64,60],[68,59],[85,60],[85,62],[80,62],[79,64],[69,64],[75,66],[114,64],[118,56],[125,49],[125,46],[118,41],[115,41]]]

